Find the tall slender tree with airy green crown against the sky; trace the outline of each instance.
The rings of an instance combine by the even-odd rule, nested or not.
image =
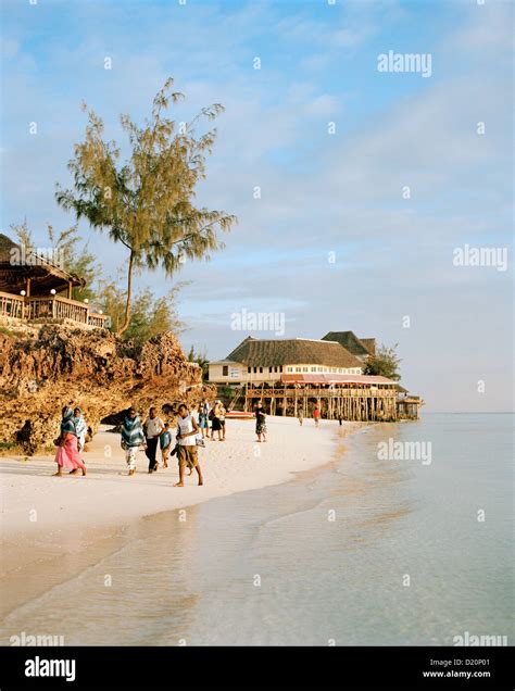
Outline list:
[[[216,130],[197,136],[200,120],[213,121],[223,106],[204,108],[189,123],[165,117],[169,103],[184,95],[173,91],[173,79],[153,100],[152,115],[142,127],[128,115],[121,116],[131,149],[118,163],[120,149],[105,141],[102,120],[88,113],[86,137],[75,146],[68,163],[74,189],[58,186],[55,198],[64,209],[85,217],[98,229],[106,229],[114,242],[128,250],[124,318],[118,335],[128,329],[133,302],[133,274],[138,267],[162,267],[172,276],[185,260],[209,259],[222,248],[216,230],[230,230],[236,216],[193,204],[197,184],[205,178],[205,159],[211,154]],[[84,110],[87,106],[84,105]]]

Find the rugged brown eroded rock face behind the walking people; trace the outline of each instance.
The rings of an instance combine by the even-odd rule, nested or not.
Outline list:
[[[93,435],[129,405],[142,417],[154,405],[172,419],[180,402],[213,394],[173,334],[138,346],[65,325],[0,331],[0,443],[29,455],[53,449],[66,404],[83,409]]]

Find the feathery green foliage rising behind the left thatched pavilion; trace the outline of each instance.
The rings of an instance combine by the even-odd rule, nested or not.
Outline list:
[[[20,243],[28,250],[37,250],[34,242],[33,234],[28,228],[27,221],[22,224],[12,224],[11,229],[16,235]],[[53,227],[47,224],[47,237],[52,251],[60,259],[60,266],[68,274],[74,274],[79,278],[84,278],[85,287],[74,286],[72,298],[74,300],[95,300],[97,291],[95,282],[100,275],[100,267],[96,262],[96,257],[89,251],[88,243],[80,248],[78,243],[81,238],[78,234],[77,226],[71,226],[67,230],[62,230],[58,236]]]

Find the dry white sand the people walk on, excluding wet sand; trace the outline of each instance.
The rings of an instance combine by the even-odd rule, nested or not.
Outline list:
[[[0,458],[2,540],[39,537],[51,531],[80,530],[123,524],[133,518],[188,506],[243,490],[287,481],[292,474],[307,470],[331,460],[343,431],[360,424],[323,420],[316,429],[313,420],[268,417],[268,440],[256,443],[252,420],[227,420],[224,442],[205,441],[199,449],[204,485],[197,475],[178,479],[176,457],[168,468],[149,475],[143,451],[138,452],[137,473],[127,476],[120,435],[101,431],[84,453],[88,468],[81,475],[52,477],[53,457]]]

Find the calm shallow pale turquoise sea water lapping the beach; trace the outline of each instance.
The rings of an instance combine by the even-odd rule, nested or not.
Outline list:
[[[431,442],[431,463],[379,460],[388,439]],[[3,631],[159,645],[452,644],[468,631],[513,644],[513,416],[427,414],[344,443],[286,485],[139,522]]]

